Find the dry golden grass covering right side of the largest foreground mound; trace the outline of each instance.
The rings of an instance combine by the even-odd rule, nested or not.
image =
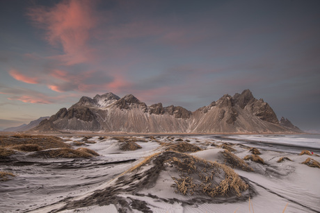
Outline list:
[[[173,164],[179,177],[172,177],[176,193],[206,194],[210,197],[241,196],[241,191],[248,189],[248,185],[230,167],[218,162],[209,162],[200,157],[179,153],[171,157],[168,162]]]

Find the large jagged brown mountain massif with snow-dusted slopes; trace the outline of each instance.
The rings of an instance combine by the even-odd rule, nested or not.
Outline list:
[[[289,123],[289,122],[286,122]],[[94,131],[104,133],[301,133],[280,123],[268,103],[250,90],[191,112],[181,106],[146,105],[129,94],[83,96],[69,109],[62,108],[31,131]]]

